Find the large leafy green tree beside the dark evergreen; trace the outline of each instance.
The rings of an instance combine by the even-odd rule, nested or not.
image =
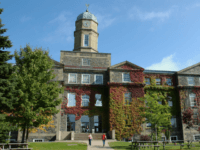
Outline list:
[[[22,91],[20,100],[15,105],[14,123],[23,129],[22,142],[26,141],[29,129],[48,124],[51,116],[58,113],[56,109],[62,99],[58,99],[64,88],[53,81],[53,61],[48,52],[42,48],[31,49],[27,45],[20,52],[15,51],[15,60],[18,71],[13,74],[18,81],[18,89]]]

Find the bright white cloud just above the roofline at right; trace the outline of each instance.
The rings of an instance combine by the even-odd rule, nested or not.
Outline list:
[[[173,60],[175,54],[164,57],[161,62],[152,64],[151,66],[145,68],[150,70],[168,70],[168,71],[179,71],[180,65],[178,62]]]

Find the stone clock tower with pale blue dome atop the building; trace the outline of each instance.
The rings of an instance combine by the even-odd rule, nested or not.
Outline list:
[[[88,9],[77,17],[73,51],[98,53],[97,26],[97,18]]]

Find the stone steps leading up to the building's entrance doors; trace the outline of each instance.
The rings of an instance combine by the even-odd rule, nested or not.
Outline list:
[[[74,133],[74,140],[88,140],[88,135],[90,133]],[[101,140],[103,133],[92,134],[93,140]]]

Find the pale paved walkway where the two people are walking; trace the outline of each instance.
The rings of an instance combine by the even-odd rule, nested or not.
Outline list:
[[[80,142],[80,143],[87,143],[87,150],[105,150],[105,149],[109,149],[109,150],[114,150],[112,149],[109,145],[108,142],[115,142],[117,140],[111,140],[111,139],[107,139],[105,141],[105,146],[103,147],[103,141],[102,140],[92,140],[91,142],[91,146],[89,145],[89,140],[66,140],[66,141],[62,141],[62,142]],[[61,141],[60,141],[61,142]]]

